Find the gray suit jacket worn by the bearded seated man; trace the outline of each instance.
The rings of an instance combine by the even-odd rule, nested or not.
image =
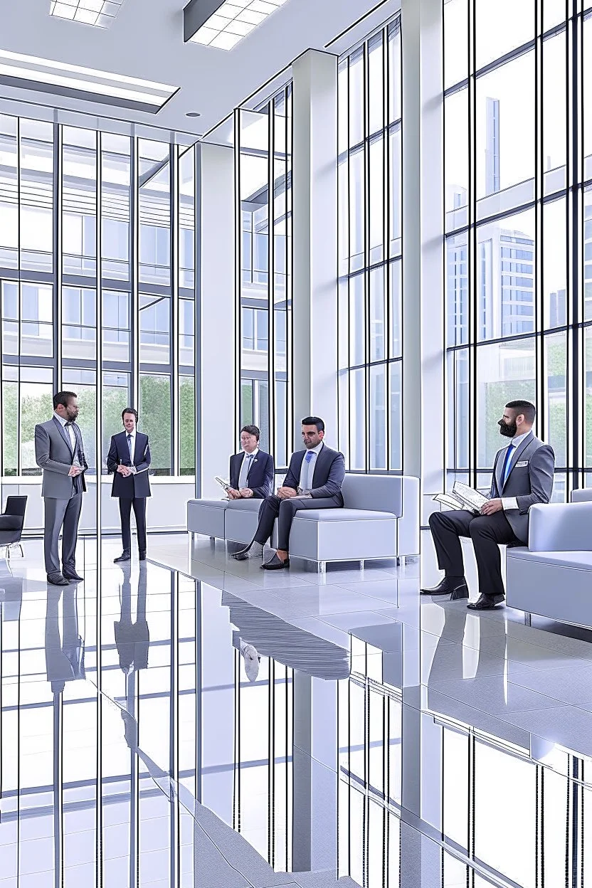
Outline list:
[[[528,543],[528,510],[534,503],[549,503],[553,490],[555,454],[530,432],[512,456],[506,483],[502,484],[507,448],[498,450],[493,463],[490,499],[516,496],[518,508],[504,512],[510,527],[523,543]]]

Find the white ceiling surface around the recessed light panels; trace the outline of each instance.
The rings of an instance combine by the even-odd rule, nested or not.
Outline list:
[[[185,3],[124,0],[108,29],[50,16],[49,0],[2,4],[0,49],[180,87],[157,115],[14,87],[0,88],[2,96],[202,134],[305,50],[325,48],[377,6],[380,9],[359,26],[366,28],[365,33],[386,17],[387,10],[391,12],[391,2],[380,0],[288,0],[231,52],[225,52],[183,43]],[[343,51],[343,39],[330,51]],[[185,117],[188,111],[199,111],[201,116]]]

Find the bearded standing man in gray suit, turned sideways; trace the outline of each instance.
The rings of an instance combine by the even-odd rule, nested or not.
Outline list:
[[[41,496],[45,503],[43,546],[47,582],[67,586],[80,581],[76,573],[75,551],[78,520],[86,492],[83,435],[76,424],[78,402],[75,392],[53,396],[53,416],[35,427],[35,455],[43,469]],[[63,530],[62,530],[63,528]],[[58,540],[62,533],[62,570],[59,569]]]

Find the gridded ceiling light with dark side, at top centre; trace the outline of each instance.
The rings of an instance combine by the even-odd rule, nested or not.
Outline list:
[[[285,3],[286,0],[190,0],[183,10],[185,43],[232,50]]]

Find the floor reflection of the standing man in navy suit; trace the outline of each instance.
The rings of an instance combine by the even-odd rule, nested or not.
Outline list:
[[[135,622],[131,619],[131,567],[127,563],[122,567],[122,574],[122,613],[119,621],[114,622],[115,646],[119,654],[119,665],[129,675],[132,671],[137,672],[148,666],[150,633],[146,622],[146,563],[141,562],[139,566]]]

